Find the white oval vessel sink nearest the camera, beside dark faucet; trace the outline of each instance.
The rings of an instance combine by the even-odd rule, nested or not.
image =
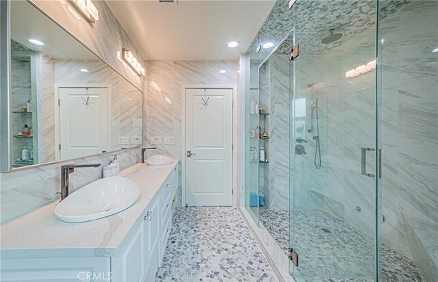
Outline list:
[[[117,214],[136,203],[140,189],[125,177],[94,181],[70,194],[55,207],[65,222],[83,222]]]

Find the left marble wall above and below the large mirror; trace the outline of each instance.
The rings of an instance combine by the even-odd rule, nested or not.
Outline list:
[[[104,1],[95,2],[99,8],[99,21],[94,25],[90,25],[83,19],[75,18],[68,11],[68,2],[66,1],[38,0],[32,1],[32,3],[38,5],[40,9],[54,18],[64,29],[76,36],[86,47],[115,68],[137,88],[143,89],[143,78],[124,66],[117,59],[116,51],[128,47],[139,58],[140,62],[142,57]],[[53,69],[48,71],[53,71]],[[51,92],[50,87],[49,85],[43,86],[47,92]],[[48,118],[50,118],[48,114],[44,116],[44,120]],[[127,149],[118,153],[122,169],[140,161],[140,150],[138,149]],[[106,164],[109,161],[110,153],[76,159],[75,164],[92,162]],[[1,222],[12,220],[42,205],[56,201],[55,192],[60,190],[60,166],[62,164],[66,164],[66,162],[12,170],[12,172],[1,174]],[[70,179],[77,189],[100,177],[101,168],[86,168],[77,170]]]

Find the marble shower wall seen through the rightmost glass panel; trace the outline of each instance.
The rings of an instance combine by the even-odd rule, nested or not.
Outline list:
[[[409,229],[438,225],[437,14],[437,1],[412,1],[380,25],[383,242],[414,259],[420,249],[409,243]],[[437,229],[432,236],[422,230],[424,246],[437,250]]]

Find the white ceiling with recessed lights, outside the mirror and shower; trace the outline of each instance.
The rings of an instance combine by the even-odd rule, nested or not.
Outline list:
[[[275,0],[107,1],[145,60],[237,60]],[[228,42],[237,41],[234,49]],[[127,47],[129,48],[129,47]]]

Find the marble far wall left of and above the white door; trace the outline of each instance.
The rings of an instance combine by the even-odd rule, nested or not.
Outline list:
[[[181,158],[182,86],[237,84],[235,61],[145,61],[146,155]],[[221,74],[220,70],[227,73]],[[152,136],[173,136],[174,144],[151,144]]]

